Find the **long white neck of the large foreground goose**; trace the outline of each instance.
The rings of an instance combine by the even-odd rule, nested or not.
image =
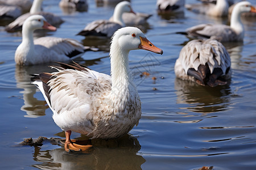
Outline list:
[[[123,92],[128,91],[133,80],[129,69],[129,50],[122,50],[118,43],[112,42],[110,48],[110,63],[112,75],[112,93],[125,95]]]

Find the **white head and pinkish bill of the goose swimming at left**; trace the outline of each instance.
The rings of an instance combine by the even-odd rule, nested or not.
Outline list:
[[[49,29],[51,31],[56,31],[57,28],[49,24],[42,15],[32,15],[25,20],[22,29],[28,29],[30,31],[35,31],[36,29]]]

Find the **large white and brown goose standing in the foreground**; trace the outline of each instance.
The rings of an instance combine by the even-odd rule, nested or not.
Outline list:
[[[130,50],[163,51],[146,39],[139,28],[123,27],[110,45],[111,76],[77,63],[53,66],[57,71],[32,75],[53,112],[53,120],[65,131],[65,151],[86,150],[71,141],[72,131],[90,138],[110,139],[127,134],[141,118],[141,101],[129,70]]]

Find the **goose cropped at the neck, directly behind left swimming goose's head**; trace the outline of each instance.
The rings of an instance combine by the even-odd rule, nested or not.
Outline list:
[[[48,23],[57,27],[64,21],[57,15],[52,14],[51,12],[43,12],[42,8],[43,0],[34,0],[32,7],[30,8],[30,12],[20,15],[17,19],[11,22],[9,25],[5,27],[7,32],[16,32],[22,30],[22,25],[24,21],[31,15],[39,14],[44,16],[47,19]]]

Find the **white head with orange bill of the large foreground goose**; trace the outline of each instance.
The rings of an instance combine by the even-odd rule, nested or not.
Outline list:
[[[163,54],[163,50],[148,41],[144,33],[136,27],[123,27],[114,33],[110,46],[110,56],[114,52],[129,53],[130,50],[136,49],[144,49],[157,54]]]

